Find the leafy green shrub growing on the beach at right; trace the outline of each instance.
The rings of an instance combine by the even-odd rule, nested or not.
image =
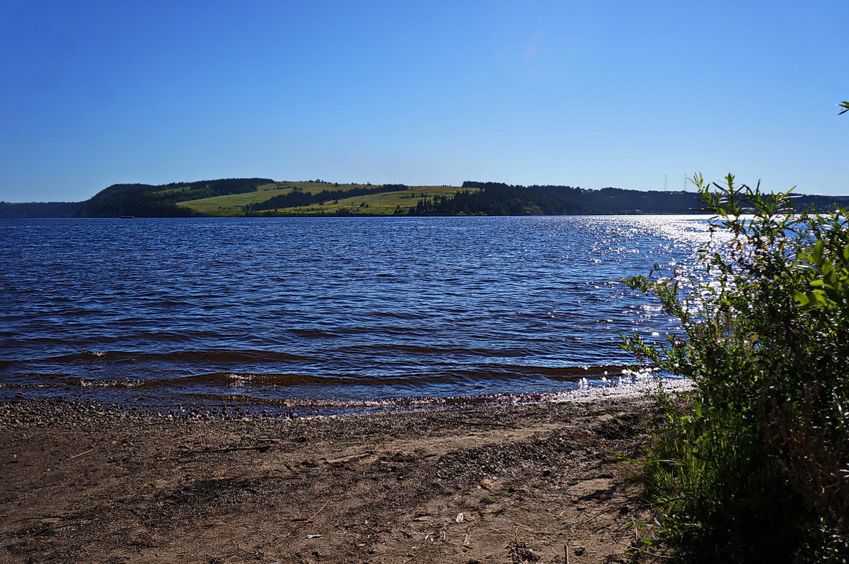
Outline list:
[[[687,562],[849,558],[849,226],[796,214],[790,193],[694,178],[722,227],[699,276],[627,279],[681,321],[622,346],[694,380],[659,395],[666,425],[642,462],[649,546]],[[654,275],[654,276],[653,276]]]

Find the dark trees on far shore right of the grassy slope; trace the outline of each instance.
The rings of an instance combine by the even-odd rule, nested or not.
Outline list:
[[[849,205],[841,196],[799,196],[797,209]],[[519,186],[465,181],[453,194],[420,199],[408,215],[610,215],[691,214],[704,207],[692,192],[659,192],[571,186]]]

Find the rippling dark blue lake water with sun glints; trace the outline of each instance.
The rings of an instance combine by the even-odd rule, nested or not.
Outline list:
[[[344,409],[615,378],[704,216],[0,221],[0,398]],[[471,396],[471,399],[469,399]]]

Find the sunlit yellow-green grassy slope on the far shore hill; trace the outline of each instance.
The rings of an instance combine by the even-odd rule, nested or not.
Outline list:
[[[301,190],[308,193],[321,192],[322,190],[350,190],[352,188],[363,187],[363,184],[340,184],[338,187],[333,184],[324,184],[320,182],[275,182],[274,184],[264,184],[256,189],[256,192],[229,194],[227,196],[217,196],[216,198],[204,198],[200,200],[189,200],[181,202],[179,205],[194,209],[202,214],[216,216],[232,216],[245,215],[244,209],[241,206],[245,204],[256,204],[272,198],[278,194],[290,192],[292,187],[300,187]],[[377,194],[368,194],[366,196],[355,196],[353,198],[340,198],[338,204],[334,204],[331,200],[324,205],[309,205],[298,208],[283,208],[276,211],[284,213],[304,214],[304,215],[325,215],[334,214],[336,210],[347,208],[352,213],[369,214],[369,215],[392,215],[396,206],[402,208],[410,208],[421,198],[421,194],[434,196],[436,194],[453,194],[460,188],[456,186],[413,186],[409,190],[398,192],[385,192]],[[415,194],[415,197],[413,197]],[[362,203],[368,204],[368,208],[360,207]]]

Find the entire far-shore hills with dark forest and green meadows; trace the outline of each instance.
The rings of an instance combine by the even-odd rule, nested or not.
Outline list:
[[[847,196],[798,195],[796,209],[849,207]],[[465,181],[462,187],[338,184],[269,178],[113,184],[84,202],[7,204],[2,217],[192,217],[290,215],[615,215],[691,214],[701,205],[684,191],[600,190]]]

